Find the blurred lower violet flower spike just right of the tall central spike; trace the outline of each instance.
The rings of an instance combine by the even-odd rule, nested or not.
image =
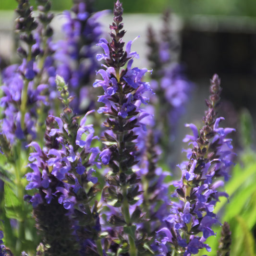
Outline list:
[[[153,237],[152,240],[154,241],[156,232],[164,225],[163,219],[170,212],[168,195],[170,184],[164,182],[170,173],[164,172],[158,166],[159,148],[156,146],[152,130],[147,131],[147,133],[146,150],[141,156],[139,173],[143,190],[141,207],[149,221],[141,224],[141,230]]]

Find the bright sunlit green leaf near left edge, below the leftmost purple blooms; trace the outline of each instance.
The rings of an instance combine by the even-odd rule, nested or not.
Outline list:
[[[4,184],[4,208],[6,216],[8,218],[22,220],[19,214],[22,212],[22,204],[23,202],[17,198],[12,188],[8,184]]]

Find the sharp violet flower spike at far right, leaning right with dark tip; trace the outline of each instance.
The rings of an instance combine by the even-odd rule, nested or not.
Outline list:
[[[205,241],[215,234],[212,225],[219,223],[213,210],[219,196],[228,197],[219,190],[224,185],[219,178],[228,180],[233,155],[231,139],[226,136],[234,129],[220,128],[223,118],[217,118],[220,92],[220,79],[215,74],[211,80],[210,98],[206,101],[208,110],[203,128],[198,132],[194,124],[187,125],[193,135],[187,135],[184,141],[190,142],[193,148],[187,150],[188,160],[179,166],[181,180],[173,182],[176,187],[173,196],[179,201],[171,203],[171,214],[166,218],[168,228],[159,231],[166,235],[160,242],[164,247],[163,255],[168,251],[166,244],[171,246],[173,255],[189,256],[202,248],[211,250]]]

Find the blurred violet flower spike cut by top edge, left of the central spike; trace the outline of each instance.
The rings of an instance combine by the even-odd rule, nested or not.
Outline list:
[[[93,12],[93,1],[75,1],[72,12],[65,11],[67,19],[62,29],[65,39],[57,43],[56,73],[69,85],[75,112],[82,113],[94,108],[96,94],[90,90],[99,68],[95,45],[102,34],[98,18],[103,12]]]

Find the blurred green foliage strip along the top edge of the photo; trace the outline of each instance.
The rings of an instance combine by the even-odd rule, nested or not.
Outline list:
[[[35,0],[31,0],[34,4]],[[212,14],[256,16],[255,0],[122,0],[125,13],[156,13],[170,8],[181,15]],[[0,10],[16,8],[15,0],[0,0]],[[52,0],[53,10],[70,9],[72,0]],[[113,9],[114,0],[95,0],[97,10]]]

